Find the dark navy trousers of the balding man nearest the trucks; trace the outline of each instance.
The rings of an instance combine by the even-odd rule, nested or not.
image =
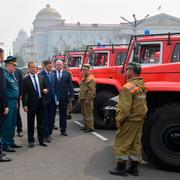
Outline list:
[[[58,108],[59,108],[59,125],[61,133],[66,132],[67,127],[67,104],[68,100],[60,100]]]

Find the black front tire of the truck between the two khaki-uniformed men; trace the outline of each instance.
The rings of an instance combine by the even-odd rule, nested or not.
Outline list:
[[[98,129],[114,129],[115,122],[105,123],[104,121],[104,107],[107,106],[108,100],[114,97],[115,94],[111,91],[99,91],[96,94],[94,101],[94,123]]]

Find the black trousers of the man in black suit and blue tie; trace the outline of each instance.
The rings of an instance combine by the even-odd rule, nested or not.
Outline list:
[[[42,101],[38,103],[36,110],[31,110],[28,108],[27,113],[27,126],[28,126],[28,142],[34,143],[34,122],[35,117],[37,120],[37,134],[39,143],[43,142],[43,108]]]

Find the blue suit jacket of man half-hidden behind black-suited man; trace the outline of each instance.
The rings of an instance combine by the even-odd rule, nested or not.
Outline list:
[[[48,77],[45,70],[42,70],[39,74],[42,75],[44,77],[44,79],[45,79],[47,89],[48,89],[48,94],[45,96],[44,102],[46,104],[49,104],[53,100],[53,90],[52,90],[52,85],[51,85],[51,75],[49,75],[49,77]]]

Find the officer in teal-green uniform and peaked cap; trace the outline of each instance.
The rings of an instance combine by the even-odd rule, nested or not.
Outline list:
[[[4,123],[2,143],[3,143],[4,151],[15,152],[15,149],[13,148],[21,147],[15,144],[15,141],[14,141],[16,117],[17,117],[17,114],[16,114],[17,113],[17,100],[19,98],[18,81],[16,80],[14,76],[14,72],[17,66],[16,57],[8,56],[4,62],[6,64],[4,75],[5,75],[5,80],[6,80],[9,113]]]

